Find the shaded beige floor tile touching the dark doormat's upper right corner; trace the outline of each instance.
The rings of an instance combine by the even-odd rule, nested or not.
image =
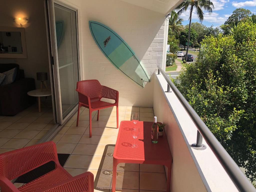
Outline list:
[[[70,155],[68,161],[64,165],[65,168],[78,168],[78,169],[88,169],[91,160],[91,155]]]

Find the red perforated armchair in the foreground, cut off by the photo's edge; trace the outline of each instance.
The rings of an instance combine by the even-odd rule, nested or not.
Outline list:
[[[10,180],[47,162],[54,161],[51,172],[16,188]],[[0,154],[1,192],[93,192],[93,174],[86,172],[72,177],[59,163],[56,145],[49,141]]]

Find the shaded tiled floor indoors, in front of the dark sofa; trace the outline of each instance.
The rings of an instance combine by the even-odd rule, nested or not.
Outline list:
[[[54,125],[52,108],[37,104],[15,116],[0,116],[0,153],[36,144]]]

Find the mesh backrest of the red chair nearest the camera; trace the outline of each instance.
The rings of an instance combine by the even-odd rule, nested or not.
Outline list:
[[[0,176],[12,180],[49,161],[58,161],[56,146],[47,142],[0,154]]]

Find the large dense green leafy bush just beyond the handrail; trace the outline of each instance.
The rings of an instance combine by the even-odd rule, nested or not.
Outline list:
[[[202,40],[176,84],[247,177],[256,180],[256,24]]]

